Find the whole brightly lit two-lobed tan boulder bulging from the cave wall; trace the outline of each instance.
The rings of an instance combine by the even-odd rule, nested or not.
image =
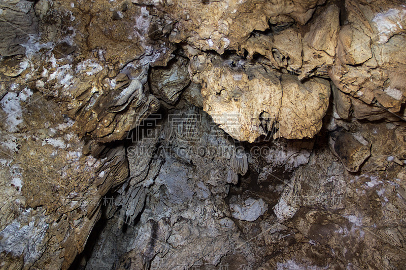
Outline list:
[[[275,136],[288,139],[313,137],[320,130],[330,95],[327,81],[301,84],[259,65],[206,56],[194,56],[192,78],[202,84],[204,110],[235,139],[253,142],[274,126]]]

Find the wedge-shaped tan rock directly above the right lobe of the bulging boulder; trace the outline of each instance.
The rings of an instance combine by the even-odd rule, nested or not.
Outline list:
[[[260,54],[267,64],[290,74],[298,74],[300,80],[313,75],[327,77],[327,69],[333,65],[333,57],[339,33],[339,10],[328,6],[311,22],[309,27],[289,27],[271,34],[255,34],[241,46],[249,58]]]

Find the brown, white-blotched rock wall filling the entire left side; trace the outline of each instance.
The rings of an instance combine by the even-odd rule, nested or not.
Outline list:
[[[15,22],[25,25],[32,3],[15,4],[26,13],[15,13]],[[125,137],[159,107],[148,94],[145,64],[166,63],[171,49],[148,39],[150,24],[159,22],[145,7],[114,5],[129,9],[129,20],[144,26],[140,32],[128,29],[134,42],[126,37],[121,45],[112,43],[95,31],[103,23],[124,29],[128,21],[103,20],[70,3],[40,1],[39,20],[33,18],[28,26],[43,31],[41,40],[38,33],[19,40],[22,45],[15,47],[25,48],[25,56],[6,58],[10,51],[2,52],[3,268],[69,267],[100,217],[101,198],[128,174],[124,147],[100,142]],[[2,40],[8,40],[7,34],[2,32]],[[20,248],[24,241],[29,248]]]

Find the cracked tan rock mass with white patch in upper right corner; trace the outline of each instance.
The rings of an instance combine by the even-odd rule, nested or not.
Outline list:
[[[405,101],[400,79],[404,63],[399,62],[404,54],[400,48],[405,41],[404,36],[398,34],[402,32],[404,7],[385,2],[386,11],[377,12],[380,3],[377,1],[361,8],[358,3],[348,1],[349,23],[339,32],[337,59],[328,72],[341,91],[375,106],[368,110],[384,111],[373,104],[377,100],[379,106],[398,112]],[[356,103],[358,106],[359,102]],[[366,113],[358,115],[359,119],[379,119],[366,116]],[[381,118],[384,117],[385,113]]]

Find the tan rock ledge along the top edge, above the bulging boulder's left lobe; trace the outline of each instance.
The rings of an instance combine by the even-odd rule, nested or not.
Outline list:
[[[253,30],[264,31],[272,24],[298,21],[306,23],[322,0],[284,1],[151,1],[138,4],[154,5],[178,22],[170,34],[174,43],[187,42],[199,50],[239,50]],[[205,10],[205,12],[200,12]]]

